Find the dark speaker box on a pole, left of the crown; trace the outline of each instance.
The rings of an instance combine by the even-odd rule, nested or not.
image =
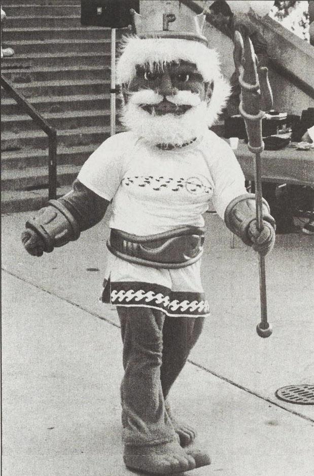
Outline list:
[[[139,13],[139,0],[81,0],[81,24],[125,28],[131,24],[132,8]]]

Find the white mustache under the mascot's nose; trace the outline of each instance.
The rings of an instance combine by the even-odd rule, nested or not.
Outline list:
[[[130,103],[132,104],[159,104],[163,100],[164,96],[155,93],[152,89],[143,89],[131,94]],[[201,99],[198,93],[192,93],[191,91],[178,91],[177,94],[166,96],[167,101],[176,105],[197,106]]]

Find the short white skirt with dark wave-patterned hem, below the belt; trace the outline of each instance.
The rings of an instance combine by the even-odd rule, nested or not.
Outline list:
[[[167,316],[197,317],[210,313],[200,278],[201,259],[179,269],[150,268],[108,253],[101,301],[123,307],[158,309]]]

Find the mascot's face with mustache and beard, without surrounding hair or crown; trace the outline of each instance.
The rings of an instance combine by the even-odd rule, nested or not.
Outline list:
[[[136,76],[124,91],[124,124],[155,143],[182,144],[206,129],[204,113],[208,83],[187,61],[136,65]]]

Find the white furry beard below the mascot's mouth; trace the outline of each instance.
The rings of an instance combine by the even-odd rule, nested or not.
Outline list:
[[[181,116],[165,114],[154,116],[141,106],[129,101],[123,108],[121,123],[138,137],[154,145],[159,143],[183,144],[202,137],[208,130],[207,103],[201,101]]]

